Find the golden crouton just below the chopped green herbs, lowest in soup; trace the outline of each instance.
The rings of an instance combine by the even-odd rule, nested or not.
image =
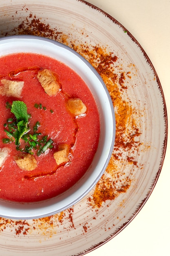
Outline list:
[[[33,171],[37,167],[37,161],[33,155],[25,154],[21,157],[15,157],[18,167],[25,171]]]

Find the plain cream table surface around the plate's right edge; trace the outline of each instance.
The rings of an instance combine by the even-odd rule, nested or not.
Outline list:
[[[144,48],[159,76],[170,120],[170,0],[88,2],[118,20]],[[170,137],[161,175],[143,209],[120,234],[88,255],[170,256]]]

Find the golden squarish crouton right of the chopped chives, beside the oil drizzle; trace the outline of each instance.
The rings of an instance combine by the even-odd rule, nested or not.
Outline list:
[[[54,153],[54,159],[57,165],[69,161],[69,147],[67,144],[61,144],[58,146],[58,151]]]

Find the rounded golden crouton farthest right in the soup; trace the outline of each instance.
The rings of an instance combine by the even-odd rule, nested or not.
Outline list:
[[[85,104],[79,98],[69,99],[67,108],[75,116],[84,114],[87,110]]]

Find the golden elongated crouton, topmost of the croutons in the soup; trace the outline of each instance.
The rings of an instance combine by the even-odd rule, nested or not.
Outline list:
[[[56,95],[60,90],[60,83],[57,81],[57,77],[51,70],[41,70],[37,75],[38,81],[44,88],[44,91],[49,95]]]

